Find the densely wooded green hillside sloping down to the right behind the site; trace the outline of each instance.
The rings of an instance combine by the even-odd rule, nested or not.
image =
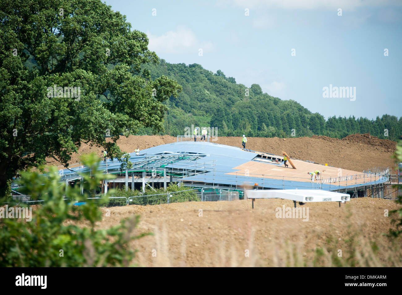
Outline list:
[[[162,75],[177,81],[182,87],[177,98],[170,97],[164,117],[164,131],[172,136],[185,133],[191,125],[217,127],[218,136],[301,137],[325,135],[343,138],[354,133],[370,133],[383,139],[396,140],[402,135],[402,117],[384,114],[375,120],[367,118],[330,117],[324,119],[295,100],[281,100],[263,93],[260,85],[236,83],[223,71],[216,73],[194,63],[159,63],[143,66],[152,79]],[[141,128],[139,134],[152,134]]]

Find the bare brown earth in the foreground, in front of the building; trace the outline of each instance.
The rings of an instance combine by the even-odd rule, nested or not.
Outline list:
[[[382,235],[391,221],[384,210],[398,208],[393,201],[359,198],[340,208],[333,202],[310,203],[301,206],[306,208],[306,221],[277,218],[276,210],[283,205],[293,207],[293,201],[258,199],[253,210],[251,200],[102,208],[103,221],[96,226],[109,228],[140,214],[136,234],[153,235],[131,246],[139,250],[135,262],[145,267],[316,266],[316,248],[324,249],[322,265],[333,266],[328,257],[339,250],[343,251],[339,259],[348,265],[354,247],[362,256],[374,257],[371,266],[390,266],[390,261],[402,266],[396,257],[401,239],[392,242]],[[372,253],[374,241],[381,248],[379,254]],[[399,253],[390,250],[395,243]]]

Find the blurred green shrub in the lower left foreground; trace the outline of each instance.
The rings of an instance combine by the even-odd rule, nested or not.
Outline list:
[[[83,161],[91,167],[91,176],[81,173],[84,189],[93,191],[108,175],[98,172],[96,155]],[[121,220],[118,226],[108,230],[95,230],[95,222],[102,220],[98,205],[106,203],[110,193],[101,200],[88,200],[88,195],[81,195],[78,187],[66,189],[65,185],[60,185],[55,167],[49,168],[49,178],[38,172],[21,172],[21,176],[25,193],[44,202],[33,208],[31,222],[18,218],[0,219],[0,267],[130,265],[135,251],[129,248],[129,242],[146,235],[132,234],[139,216]],[[74,202],[66,202],[64,198],[85,203],[74,206]],[[5,204],[1,202],[0,205]],[[77,221],[81,226],[73,225]]]

